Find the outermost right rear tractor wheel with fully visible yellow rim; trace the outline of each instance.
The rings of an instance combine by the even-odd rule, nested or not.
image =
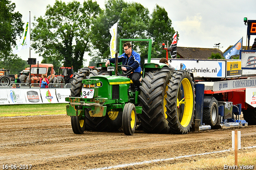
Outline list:
[[[175,71],[168,84],[166,114],[170,131],[174,134],[186,134],[194,119],[195,94],[194,83],[188,71]]]

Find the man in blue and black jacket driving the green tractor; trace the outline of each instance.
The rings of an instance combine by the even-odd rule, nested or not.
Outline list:
[[[118,63],[122,61],[122,65],[128,65],[134,69],[133,73],[129,75],[132,82],[139,89],[140,87],[140,77],[141,77],[141,67],[140,67],[140,54],[132,49],[131,43],[124,43],[124,53],[118,57]],[[108,59],[106,62],[106,67],[110,65],[109,63],[115,63],[115,58]],[[123,71],[130,71],[130,67],[122,67]]]

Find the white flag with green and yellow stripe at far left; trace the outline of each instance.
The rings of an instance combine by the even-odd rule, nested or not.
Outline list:
[[[22,37],[21,37],[20,41],[17,43],[17,45],[15,46],[14,50],[12,51],[12,53],[14,53],[14,54],[18,53],[22,49],[26,49],[26,48],[30,47],[29,15],[28,15],[27,22],[25,23],[24,26],[25,26],[25,28],[24,28]]]

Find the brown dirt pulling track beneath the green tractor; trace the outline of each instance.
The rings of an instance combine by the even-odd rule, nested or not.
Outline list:
[[[232,130],[207,130],[180,135],[147,134],[136,130],[133,136],[126,136],[123,132],[86,131],[78,135],[73,133],[70,117],[66,115],[1,118],[0,166],[32,164],[31,169],[80,170],[221,151],[232,148]],[[239,130],[242,148],[256,146],[256,126]],[[239,152],[255,149],[241,149]],[[155,164],[216,158],[230,153],[233,151]],[[119,169],[145,169],[152,165]]]

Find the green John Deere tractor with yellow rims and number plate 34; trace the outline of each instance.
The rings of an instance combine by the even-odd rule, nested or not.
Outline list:
[[[135,88],[127,77],[130,73],[122,72],[118,63],[110,63],[108,68],[105,63],[98,63],[94,69],[78,70],[71,96],[66,98],[70,102],[67,115],[75,134],[122,129],[124,134],[132,135],[136,128],[147,133],[183,134],[190,130],[195,110],[192,76],[164,63],[150,63],[150,39],[120,39],[119,50],[124,42],[132,41],[148,42],[148,61],[140,89]]]

